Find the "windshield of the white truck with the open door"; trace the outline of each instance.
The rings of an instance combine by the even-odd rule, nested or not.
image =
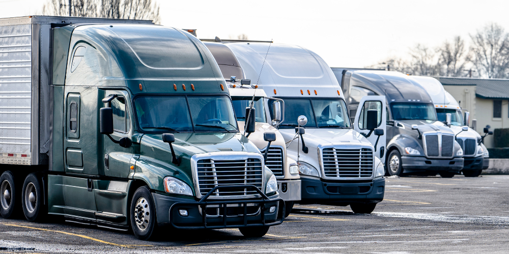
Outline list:
[[[285,99],[285,121],[281,128],[294,128],[300,115],[307,117],[304,128],[350,128],[342,99]]]

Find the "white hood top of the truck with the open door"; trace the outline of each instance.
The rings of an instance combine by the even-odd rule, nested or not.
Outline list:
[[[294,129],[280,129],[279,132],[285,136],[287,141],[295,135]],[[371,145],[370,141],[352,129],[306,129],[306,133],[302,137],[304,137],[306,146],[313,147],[318,147],[319,144],[340,142]]]

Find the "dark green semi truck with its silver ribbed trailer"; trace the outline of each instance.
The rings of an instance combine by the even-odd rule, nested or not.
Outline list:
[[[282,223],[276,178],[194,36],[48,16],[0,31],[3,217],[63,215],[144,240],[163,226],[260,237]]]

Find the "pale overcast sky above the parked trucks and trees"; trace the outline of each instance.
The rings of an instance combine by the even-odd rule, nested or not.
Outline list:
[[[0,17],[41,14],[46,1],[0,0]],[[331,67],[370,66],[457,35],[469,42],[489,22],[509,31],[509,1],[155,1],[162,25],[197,29],[199,38],[296,44]]]

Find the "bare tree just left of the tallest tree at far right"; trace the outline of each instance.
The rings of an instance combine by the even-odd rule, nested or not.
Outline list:
[[[460,36],[454,38],[453,43],[447,40],[438,48],[440,76],[461,77],[464,76],[465,65],[470,57],[465,51],[465,41]]]

